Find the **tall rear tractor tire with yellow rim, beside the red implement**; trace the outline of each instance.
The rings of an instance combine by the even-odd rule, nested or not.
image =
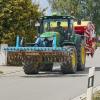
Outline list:
[[[85,46],[79,43],[76,46],[77,50],[77,70],[84,71],[85,70],[85,61],[86,61],[86,53],[85,53]]]

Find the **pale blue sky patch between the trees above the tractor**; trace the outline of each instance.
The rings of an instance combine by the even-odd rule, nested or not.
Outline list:
[[[37,1],[40,4],[40,8],[44,9],[44,8],[48,7],[46,14],[50,15],[51,14],[51,9],[50,9],[50,5],[49,5],[48,1],[47,0],[37,0]]]

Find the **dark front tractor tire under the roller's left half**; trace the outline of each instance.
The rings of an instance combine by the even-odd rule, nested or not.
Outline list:
[[[38,74],[38,64],[36,63],[33,63],[33,64],[26,63],[24,64],[23,69],[24,69],[25,74],[27,75]]]

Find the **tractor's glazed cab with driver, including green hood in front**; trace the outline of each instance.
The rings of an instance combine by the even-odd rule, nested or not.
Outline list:
[[[41,17],[39,30],[40,38],[42,41],[48,42],[48,45],[44,46],[51,47],[54,41],[56,42],[56,46],[61,46],[64,40],[68,40],[69,36],[73,34],[73,19],[74,18],[71,16],[56,15]],[[36,41],[36,43],[38,43],[38,41]]]

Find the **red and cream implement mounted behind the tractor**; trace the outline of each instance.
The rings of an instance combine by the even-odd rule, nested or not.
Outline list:
[[[74,29],[77,34],[85,37],[86,54],[93,57],[96,50],[96,32],[94,24],[91,21],[81,21],[80,24],[75,22]]]

